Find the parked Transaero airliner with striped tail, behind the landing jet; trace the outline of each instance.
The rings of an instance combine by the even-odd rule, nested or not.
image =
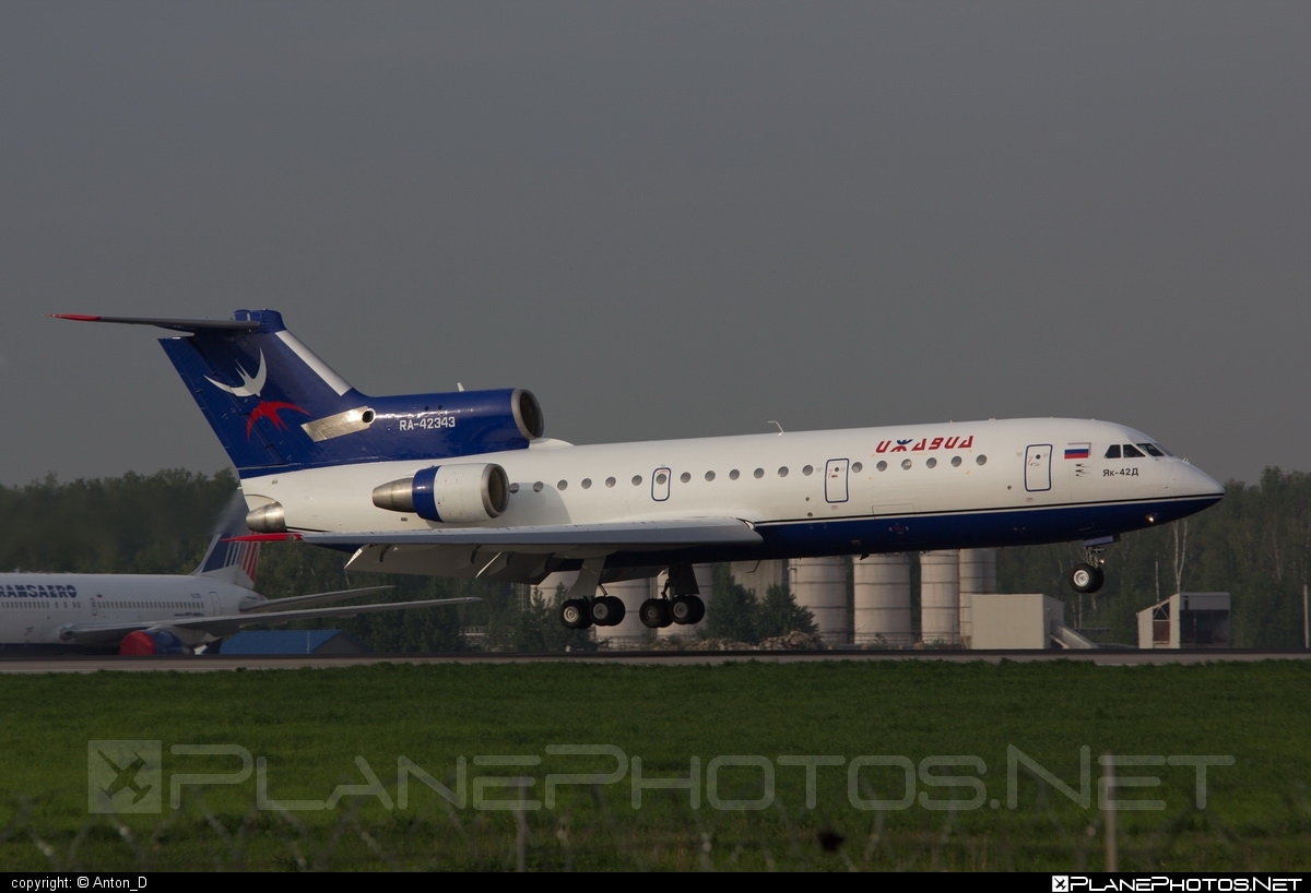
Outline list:
[[[223,636],[256,623],[479,601],[467,597],[308,608],[392,587],[265,598],[253,588],[260,542],[235,539],[249,533],[245,511],[237,498],[201,564],[189,575],[0,574],[0,653],[182,655],[212,648]]]

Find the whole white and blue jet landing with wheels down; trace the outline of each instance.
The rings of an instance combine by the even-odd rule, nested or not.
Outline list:
[[[351,551],[350,570],[540,583],[578,571],[569,629],[611,626],[615,580],[669,571],[648,627],[705,611],[692,564],[1079,541],[1105,547],[1223,487],[1110,422],[987,419],[573,445],[523,389],[368,397],[275,310],[232,319],[52,314],[159,326],[237,469],[253,538]]]

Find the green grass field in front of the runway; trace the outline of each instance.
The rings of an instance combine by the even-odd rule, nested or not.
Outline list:
[[[1121,869],[1311,867],[1301,661],[101,672],[0,698],[10,869],[1101,869],[1103,800]]]

